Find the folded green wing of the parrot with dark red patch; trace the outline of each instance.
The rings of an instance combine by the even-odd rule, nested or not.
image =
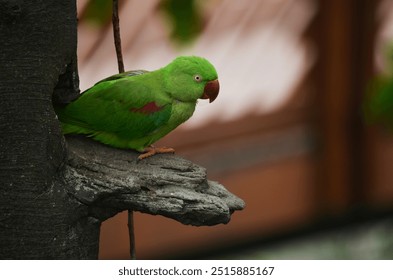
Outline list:
[[[145,137],[165,125],[171,116],[171,103],[159,96],[152,85],[135,80],[114,78],[99,82],[67,106],[62,122],[80,130],[65,133]]]

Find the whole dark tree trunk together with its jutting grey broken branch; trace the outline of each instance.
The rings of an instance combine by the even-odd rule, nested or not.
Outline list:
[[[75,1],[0,0],[0,259],[96,259],[124,209],[227,223],[242,200],[172,155],[62,136],[52,99],[79,92]]]

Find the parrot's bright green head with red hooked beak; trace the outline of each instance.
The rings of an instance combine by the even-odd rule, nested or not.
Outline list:
[[[213,102],[220,90],[217,71],[205,58],[180,56],[166,67],[167,91],[182,102],[209,99]]]

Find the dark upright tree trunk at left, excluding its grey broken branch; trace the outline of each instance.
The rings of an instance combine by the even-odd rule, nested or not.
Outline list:
[[[75,94],[75,1],[0,1],[0,258],[96,258],[100,223],[59,180],[52,94]],[[66,96],[66,94],[62,94]]]

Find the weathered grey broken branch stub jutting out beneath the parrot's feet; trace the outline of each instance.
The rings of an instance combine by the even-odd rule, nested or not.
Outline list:
[[[67,137],[69,193],[105,220],[123,210],[163,215],[195,226],[228,223],[244,202],[206,170],[175,155],[138,161],[132,150],[114,149],[85,137]]]

